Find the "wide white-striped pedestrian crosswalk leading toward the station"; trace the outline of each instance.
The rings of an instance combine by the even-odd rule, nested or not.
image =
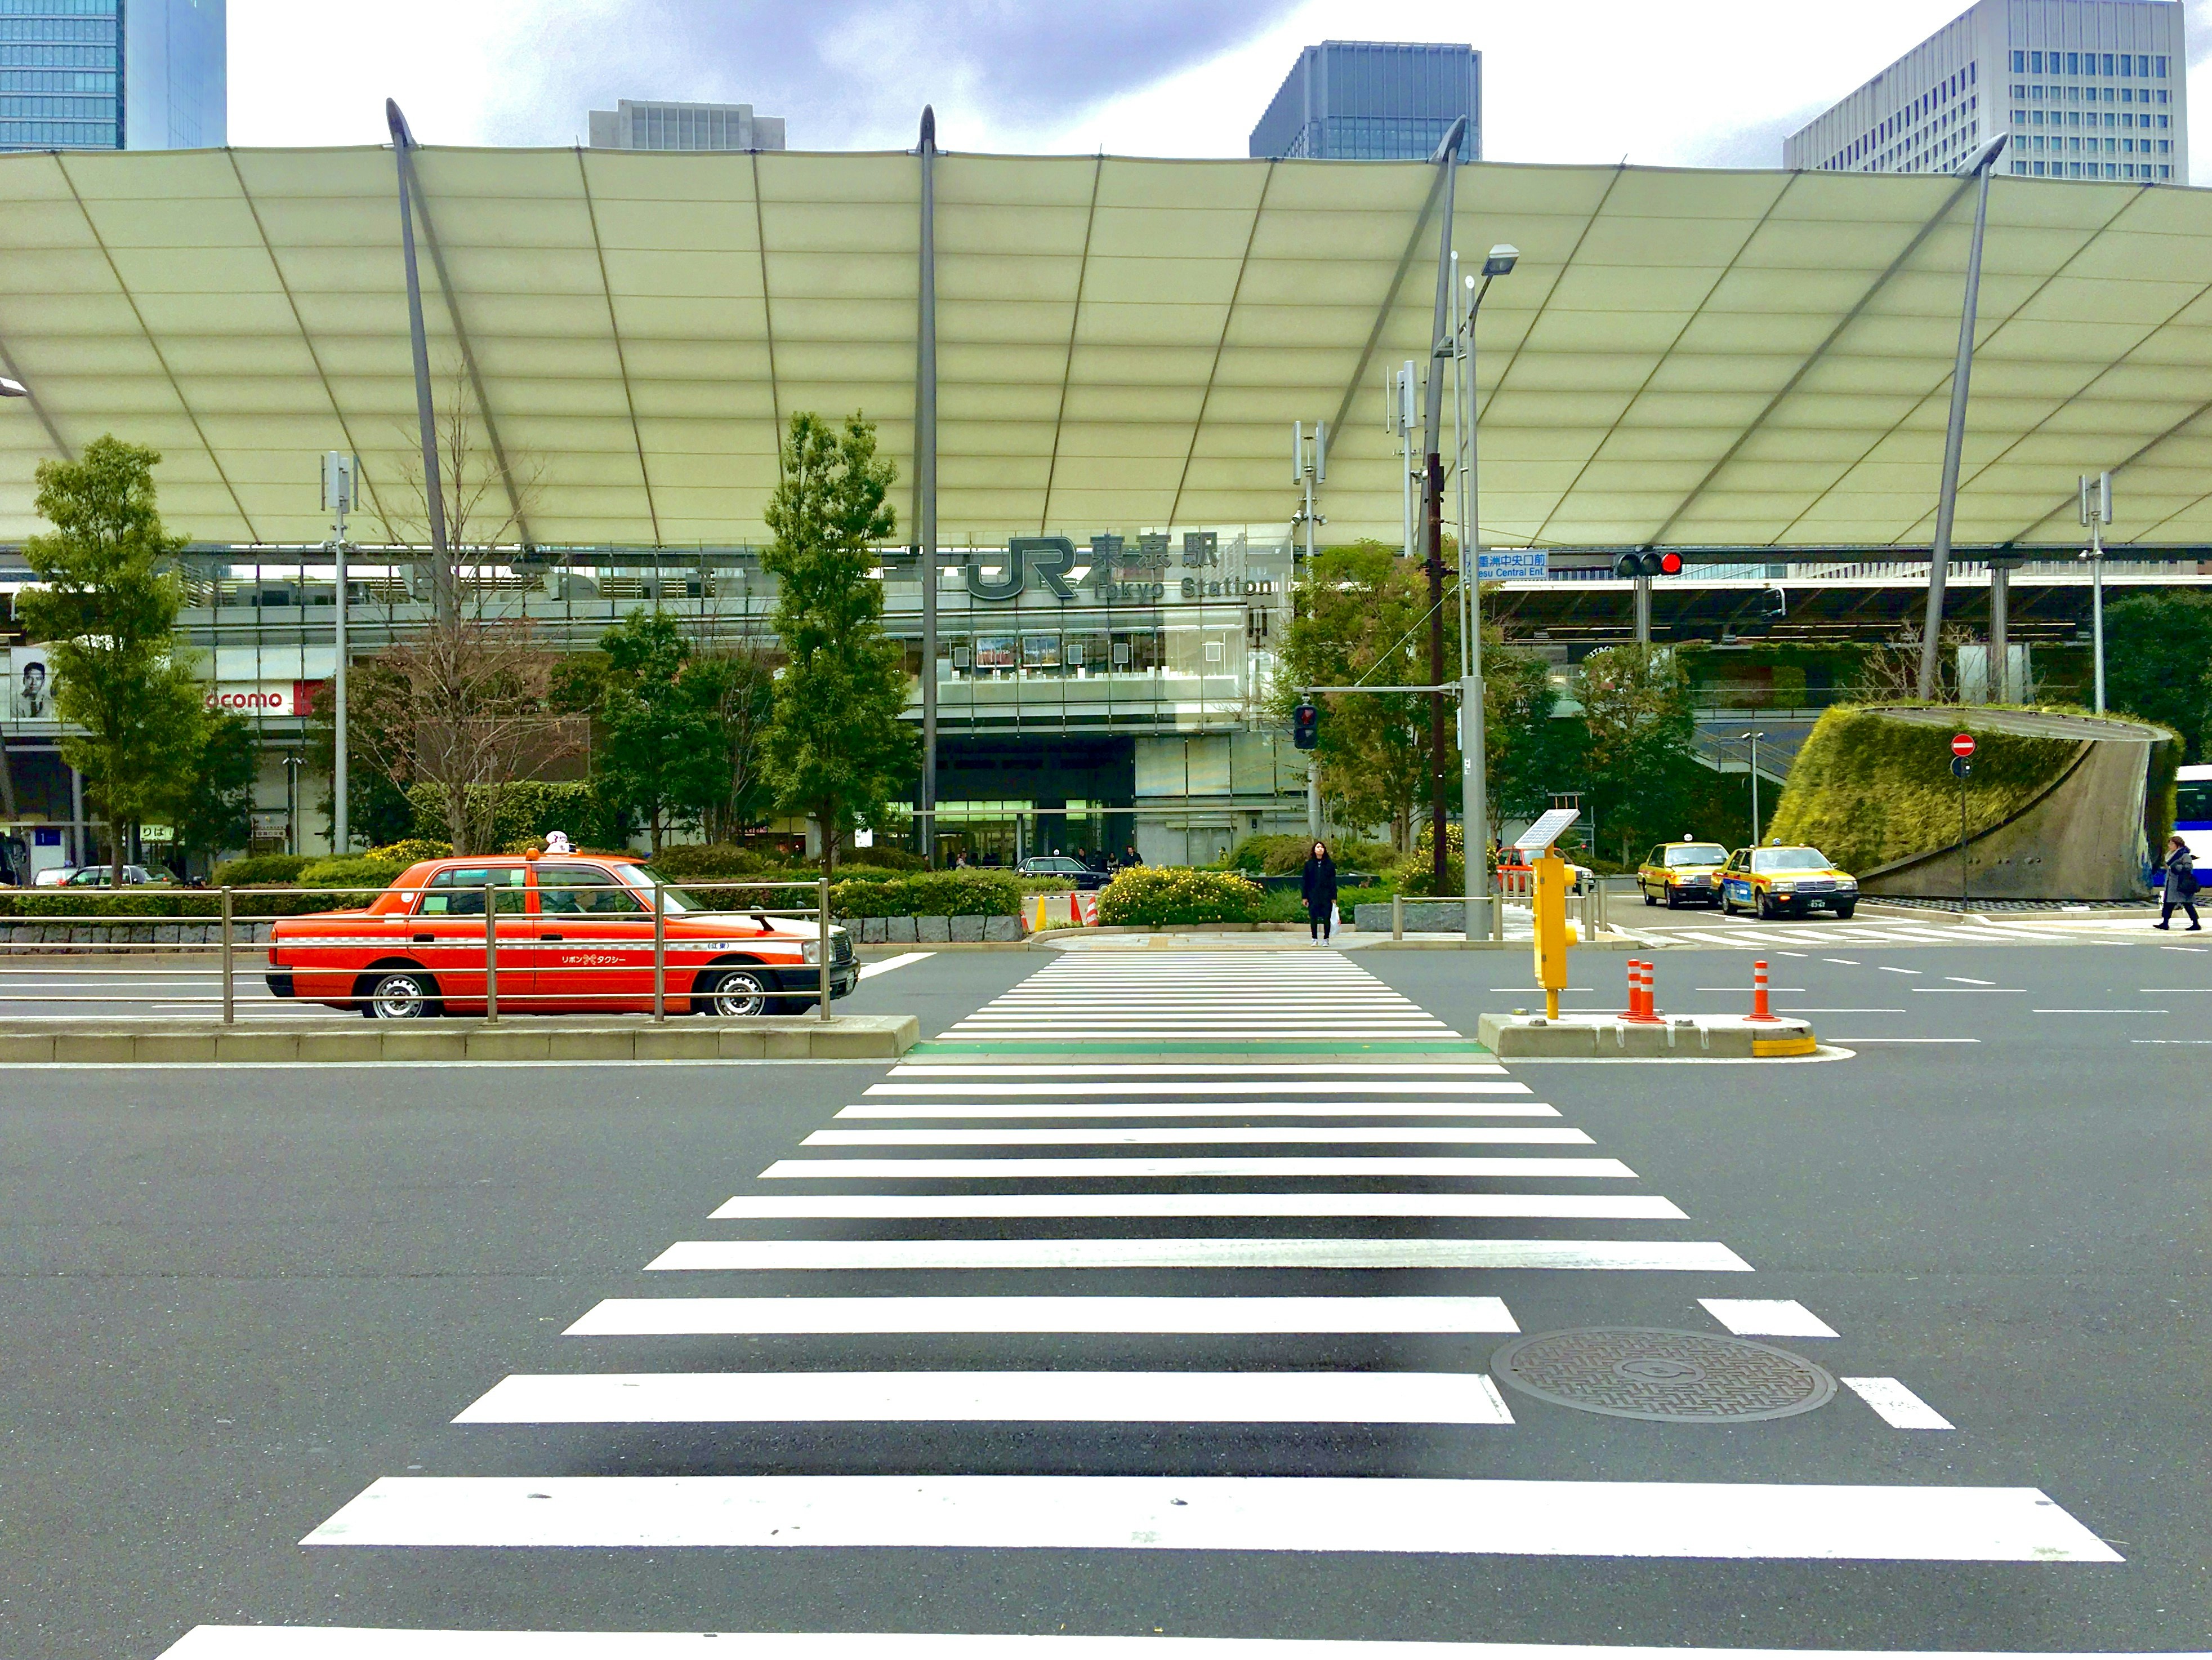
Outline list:
[[[708,1222],[728,1233],[675,1239],[641,1264],[653,1295],[573,1319],[573,1370],[498,1379],[456,1403],[453,1423],[471,1434],[867,1425],[823,1443],[830,1467],[748,1467],[739,1428],[728,1432],[739,1439],[701,1441],[697,1470],[608,1474],[595,1456],[582,1472],[387,1474],[303,1545],[812,1547],[830,1565],[792,1571],[830,1574],[847,1549],[2119,1560],[2026,1485],[1601,1481],[1586,1454],[1557,1479],[1506,1481],[1460,1474],[1464,1463],[1422,1474],[1380,1441],[1358,1443],[1371,1445],[1369,1463],[1352,1474],[1281,1474],[1279,1459],[1237,1472],[1234,1448],[1267,1434],[1254,1425],[1531,1434],[1515,1412],[1544,1408],[1436,1341],[1520,1335],[1513,1297],[1498,1295],[1509,1286],[1542,1282],[1546,1310],[1577,1295],[1551,1286],[1630,1288],[1610,1301],[1593,1290],[1595,1315],[1637,1284],[1666,1284],[1655,1317],[1635,1324],[1834,1339],[1818,1310],[1776,1297],[1714,1295],[1692,1313],[1697,1293],[1732,1290],[1754,1264],[1697,1237],[1679,1204],[1480,1045],[1334,952],[1053,961],[858,1091]],[[1504,1273],[1520,1277],[1489,1277]],[[1683,1284],[1694,1290],[1681,1295]],[[637,1343],[701,1337],[790,1339],[799,1348],[779,1355],[799,1359],[779,1370],[593,1361],[608,1339],[630,1339],[622,1352],[635,1361]],[[978,1350],[984,1337],[1002,1341]],[[1046,1350],[1071,1337],[1091,1343],[1077,1350],[1084,1366],[962,1366],[1024,1346],[1033,1361],[1053,1359]],[[1347,1337],[1371,1339],[1367,1363],[1345,1363]],[[681,1355],[697,1350],[668,1359]],[[1900,1379],[1843,1381],[1854,1397],[1827,1410],[1856,1412],[1851,1434],[1949,1428]],[[1933,1423],[1913,1423],[1905,1401]],[[1146,1441],[1161,1448],[1152,1467],[1009,1474],[1002,1456],[984,1456],[991,1425],[1057,1425],[1062,1439],[1175,1432]],[[1172,1448],[1210,1425],[1241,1425],[1243,1439],[1190,1474]],[[900,1434],[916,1428],[938,1448],[969,1445],[973,1467],[958,1456],[911,1467]],[[593,1633],[560,1631],[290,1636],[292,1647],[274,1647],[265,1629],[199,1627],[170,1653],[602,1653]],[[929,1653],[931,1640],[878,1642],[863,1647],[905,1660],[891,1649]]]

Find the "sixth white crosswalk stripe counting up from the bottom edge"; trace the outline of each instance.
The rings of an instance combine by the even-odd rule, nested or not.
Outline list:
[[[1601,1217],[1688,1222],[1657,1193],[741,1193],[712,1222],[1075,1220],[1175,1215]]]

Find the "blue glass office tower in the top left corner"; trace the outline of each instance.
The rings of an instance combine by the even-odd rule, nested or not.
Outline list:
[[[223,0],[0,0],[0,151],[228,142]]]

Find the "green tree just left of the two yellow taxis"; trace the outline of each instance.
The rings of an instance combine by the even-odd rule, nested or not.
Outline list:
[[[1666,646],[1604,646],[1582,660],[1575,697],[1588,728],[1590,812],[1621,863],[1630,848],[1681,834],[1697,733],[1690,677]]]

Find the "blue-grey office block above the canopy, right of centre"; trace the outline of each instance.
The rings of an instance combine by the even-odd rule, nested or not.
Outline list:
[[[1298,53],[1252,128],[1252,155],[1427,162],[1467,117],[1462,162],[1482,159],[1482,53],[1396,40],[1325,40]]]

